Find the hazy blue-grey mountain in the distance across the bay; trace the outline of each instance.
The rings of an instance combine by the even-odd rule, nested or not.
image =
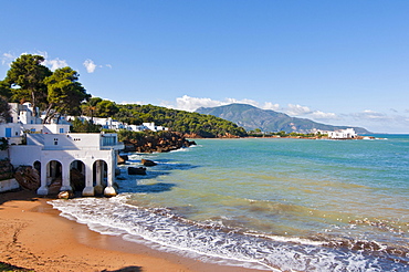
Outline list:
[[[283,113],[271,109],[261,109],[248,104],[230,104],[219,107],[200,107],[196,111],[200,114],[213,115],[223,119],[231,121],[247,130],[260,128],[262,132],[286,133],[312,133],[315,129],[336,130],[352,126],[332,126],[316,123],[306,118],[291,117]],[[356,133],[369,133],[363,127],[353,127]]]

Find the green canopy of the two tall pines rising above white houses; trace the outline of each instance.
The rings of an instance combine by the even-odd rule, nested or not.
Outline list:
[[[36,107],[45,111],[44,123],[57,113],[80,115],[81,103],[91,95],[78,82],[78,73],[67,66],[52,72],[43,62],[42,55],[23,54],[15,59],[0,82],[0,95],[9,102],[31,102],[33,116],[38,116]]]

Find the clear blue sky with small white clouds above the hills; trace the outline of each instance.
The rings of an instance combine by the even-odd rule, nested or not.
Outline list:
[[[409,133],[409,1],[2,1],[0,80],[22,53],[94,96],[248,103]]]

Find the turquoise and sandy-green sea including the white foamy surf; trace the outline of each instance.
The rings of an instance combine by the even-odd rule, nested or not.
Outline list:
[[[103,234],[264,271],[409,271],[409,135],[195,139],[129,153],[117,197],[53,200]],[[158,165],[129,176],[140,159]]]

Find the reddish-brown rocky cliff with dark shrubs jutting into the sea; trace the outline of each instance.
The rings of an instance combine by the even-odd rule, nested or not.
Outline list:
[[[168,132],[159,135],[147,135],[138,139],[124,140],[124,151],[137,153],[167,153],[183,147],[196,145],[185,138],[180,133]]]

